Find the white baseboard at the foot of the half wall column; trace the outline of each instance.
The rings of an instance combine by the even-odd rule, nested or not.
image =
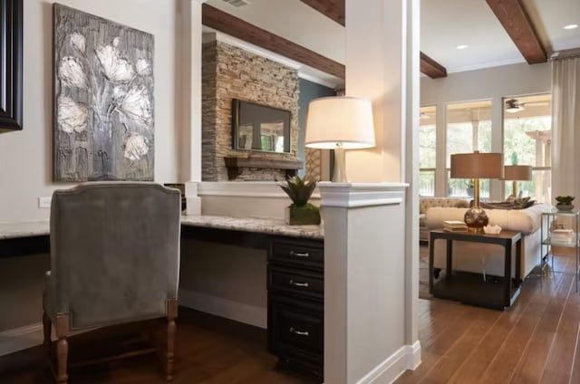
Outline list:
[[[377,365],[357,384],[391,383],[405,370],[415,370],[420,364],[420,342],[415,341],[412,345],[404,345],[394,352],[381,364]]]

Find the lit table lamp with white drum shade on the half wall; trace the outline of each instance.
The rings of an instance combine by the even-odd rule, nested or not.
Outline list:
[[[309,148],[334,149],[333,182],[346,183],[344,149],[374,147],[371,101],[351,96],[310,101],[304,142]]]

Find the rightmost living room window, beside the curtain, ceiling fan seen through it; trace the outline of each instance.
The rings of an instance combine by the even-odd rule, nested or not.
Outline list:
[[[549,94],[504,99],[504,164],[532,166],[532,179],[518,181],[518,195],[551,201],[552,98]],[[505,183],[505,195],[513,193]]]

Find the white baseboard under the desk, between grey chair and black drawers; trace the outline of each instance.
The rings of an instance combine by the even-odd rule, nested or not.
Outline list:
[[[235,320],[236,322],[243,322],[264,329],[267,327],[266,307],[234,302],[218,296],[182,289],[179,290],[179,304],[194,310]]]

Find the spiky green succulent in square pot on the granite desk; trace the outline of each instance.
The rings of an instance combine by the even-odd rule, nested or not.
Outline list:
[[[320,224],[320,209],[308,203],[316,187],[315,181],[293,176],[286,178],[285,184],[280,184],[280,187],[292,200],[292,204],[286,207],[286,224],[292,226]]]

